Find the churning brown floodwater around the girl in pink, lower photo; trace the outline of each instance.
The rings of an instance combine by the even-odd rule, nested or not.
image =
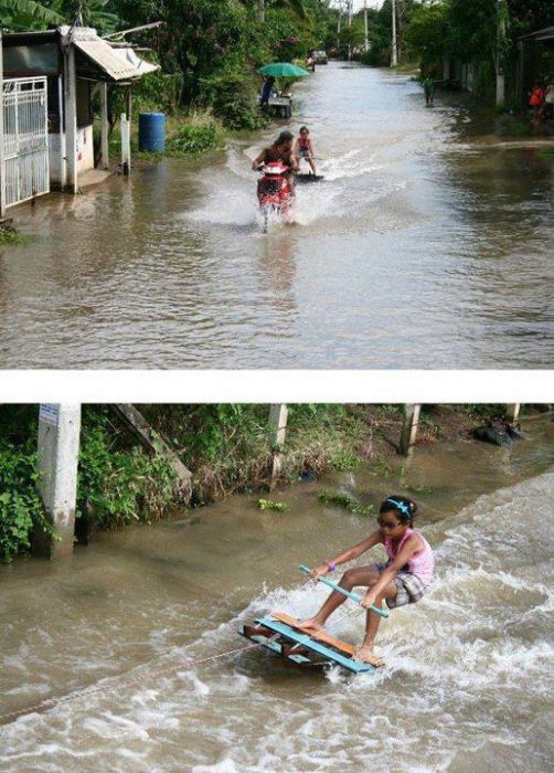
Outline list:
[[[0,566],[0,769],[548,770],[554,424],[525,434],[511,452],[422,448],[402,476],[398,462],[298,484],[276,495],[284,512],[231,497],[100,533],[65,563]],[[312,612],[326,592],[298,564],[374,528],[323,506],[322,489],[364,502],[412,490],[420,506],[436,578],[419,604],[382,623],[386,669],[286,668],[258,649],[215,659],[247,646],[236,633],[245,618]],[[348,640],[363,635],[353,605],[329,623]],[[214,659],[191,664],[202,658]],[[95,692],[77,697],[83,689]]]

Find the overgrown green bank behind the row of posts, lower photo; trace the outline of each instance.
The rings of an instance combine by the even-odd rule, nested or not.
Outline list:
[[[138,406],[192,470],[191,507],[237,493],[263,493],[270,480],[274,430],[268,405]],[[397,454],[401,405],[289,405],[281,483],[369,463],[385,472]],[[533,412],[531,406],[528,411]],[[503,414],[501,405],[424,406],[418,445],[470,438]],[[38,495],[38,406],[7,405],[0,414],[0,554],[30,548],[33,529],[49,529]],[[92,528],[151,523],[183,502],[163,456],[138,445],[108,406],[82,416],[77,517]],[[83,529],[79,529],[79,532]]]

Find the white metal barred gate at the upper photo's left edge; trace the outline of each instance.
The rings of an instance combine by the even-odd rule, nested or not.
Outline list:
[[[3,82],[3,159],[6,207],[50,191],[45,77]]]

